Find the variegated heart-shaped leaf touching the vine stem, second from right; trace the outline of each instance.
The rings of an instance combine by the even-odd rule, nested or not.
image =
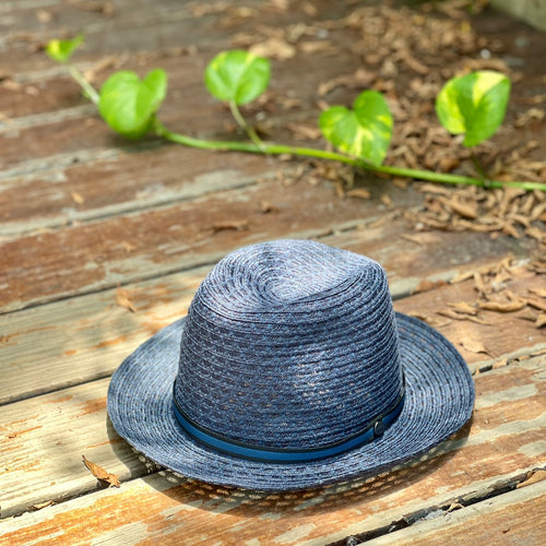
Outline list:
[[[339,150],[373,165],[381,165],[392,136],[392,115],[377,91],[364,91],[353,110],[332,106],[319,118],[322,134]]]

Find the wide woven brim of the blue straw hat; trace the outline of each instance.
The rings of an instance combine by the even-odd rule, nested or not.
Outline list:
[[[404,407],[378,438],[306,463],[269,463],[227,455],[185,432],[173,411],[185,319],[164,328],[114,373],[108,413],[116,431],[153,462],[186,477],[260,490],[294,490],[372,475],[418,458],[471,417],[474,381],[453,345],[425,322],[396,313],[406,381]]]

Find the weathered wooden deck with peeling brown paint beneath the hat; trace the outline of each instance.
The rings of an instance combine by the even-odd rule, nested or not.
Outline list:
[[[271,39],[292,28],[300,33],[286,43],[294,55],[272,49],[272,95],[264,103],[273,138],[289,141],[297,136],[289,123],[310,124],[317,116],[319,84],[361,66],[353,31],[335,22],[369,3],[0,3],[0,544],[545,544],[543,222],[517,234],[463,224],[434,229],[419,218],[435,194],[417,183],[359,176],[355,183],[370,192],[359,199],[306,162],[154,139],[128,143],[40,51],[47,39],[82,31],[86,47],[76,62],[97,70],[97,84],[119,68],[143,74],[163,67],[165,123],[227,138],[234,127],[204,94],[204,66],[257,34],[271,49]],[[487,36],[491,21],[515,28],[505,38],[491,34],[491,44],[514,35],[531,45],[542,39],[505,15],[482,14],[472,24]],[[317,45],[325,36],[330,52]],[[533,48],[520,54],[520,82],[544,95],[544,78],[535,74],[544,60]],[[355,93],[342,86],[328,98],[351,104]],[[249,115],[256,121],[256,111]],[[519,131],[505,141],[536,141],[529,161],[544,158],[544,122],[522,122]],[[502,192],[496,195],[502,202]],[[541,199],[530,198],[529,209]],[[477,394],[472,422],[424,460],[309,491],[221,488],[156,468],[108,420],[110,375],[186,313],[218,259],[242,245],[288,237],[383,264],[395,308],[434,324],[468,363]],[[488,309],[489,293],[523,304],[511,312]],[[462,302],[476,312],[461,312]],[[82,455],[118,475],[121,486],[105,488]]]

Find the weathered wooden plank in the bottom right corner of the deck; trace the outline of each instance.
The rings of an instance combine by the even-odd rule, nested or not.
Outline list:
[[[543,544],[545,522],[546,480],[542,480],[366,544]]]

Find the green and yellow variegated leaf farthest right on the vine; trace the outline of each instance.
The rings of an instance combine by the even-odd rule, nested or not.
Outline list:
[[[464,134],[474,146],[488,139],[505,119],[510,80],[500,72],[482,70],[453,78],[436,97],[436,114],[452,134]]]

